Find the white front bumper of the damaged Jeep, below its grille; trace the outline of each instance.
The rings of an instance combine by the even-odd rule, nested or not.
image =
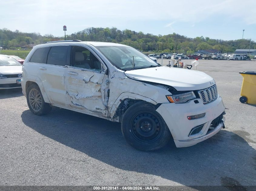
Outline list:
[[[218,124],[214,129],[209,130],[211,122],[223,113],[225,110],[222,98],[218,98],[210,103],[203,104],[201,99],[190,100],[187,103],[163,103],[156,110],[165,120],[176,147],[188,147],[195,145],[207,138],[215,135],[221,130],[223,124]],[[188,120],[187,116],[198,115],[205,113],[205,116],[200,119]],[[223,118],[224,120],[224,118]],[[202,125],[200,132],[189,135],[191,129]]]

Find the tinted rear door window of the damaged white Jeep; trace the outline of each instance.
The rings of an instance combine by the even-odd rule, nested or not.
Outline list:
[[[67,65],[68,46],[53,46],[48,54],[47,64]]]

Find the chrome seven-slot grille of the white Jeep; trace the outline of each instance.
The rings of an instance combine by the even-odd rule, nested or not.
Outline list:
[[[218,91],[217,91],[216,84],[211,86],[210,88],[206,88],[204,90],[199,90],[198,94],[204,104],[215,100],[218,97]]]

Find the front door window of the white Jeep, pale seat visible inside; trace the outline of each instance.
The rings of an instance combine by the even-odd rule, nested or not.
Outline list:
[[[82,46],[72,46],[71,66],[101,72],[101,62],[90,50]]]

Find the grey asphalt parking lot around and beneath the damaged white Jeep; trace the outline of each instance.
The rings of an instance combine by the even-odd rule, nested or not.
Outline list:
[[[197,70],[215,79],[226,128],[154,152],[130,147],[119,123],[60,108],[35,116],[21,88],[1,90],[0,185],[256,186],[256,105],[239,102],[238,73],[256,71],[256,62],[199,60]]]

